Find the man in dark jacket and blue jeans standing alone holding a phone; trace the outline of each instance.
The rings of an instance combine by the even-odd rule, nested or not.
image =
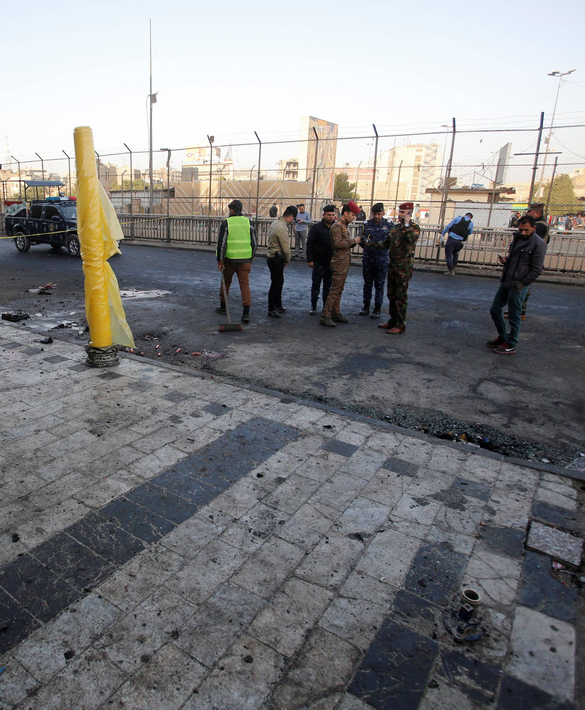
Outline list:
[[[546,253],[547,245],[536,234],[534,217],[528,215],[522,217],[518,231],[510,244],[508,256],[503,257],[498,254],[498,261],[503,263],[504,269],[500,287],[495,292],[490,308],[490,316],[498,329],[498,337],[486,343],[498,355],[511,355],[516,351],[522,303],[530,284],[542,273]],[[506,304],[508,304],[510,332],[502,313]]]

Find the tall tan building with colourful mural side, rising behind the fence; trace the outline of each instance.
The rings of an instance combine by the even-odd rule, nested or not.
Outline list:
[[[318,137],[316,141],[315,129]],[[315,171],[315,197],[331,199],[335,184],[338,125],[315,116],[301,117],[299,141],[299,182],[312,182]],[[318,146],[317,146],[318,143]],[[316,155],[315,152],[317,151]]]

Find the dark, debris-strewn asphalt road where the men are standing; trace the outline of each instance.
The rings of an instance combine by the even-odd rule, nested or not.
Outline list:
[[[349,324],[326,329],[317,316],[308,315],[311,270],[305,262],[286,269],[285,317],[267,317],[269,271],[257,258],[251,275],[252,320],[242,333],[220,334],[217,326],[226,319],[214,310],[220,280],[213,254],[133,244],[122,244],[122,251],[110,261],[120,288],[172,292],[124,302],[136,345],[146,356],[156,358],[160,342],[159,359],[388,415],[396,423],[434,433],[457,424],[449,417],[468,425],[481,422],[485,431],[495,427],[535,442],[536,449],[542,445],[543,456],[550,455],[546,447],[569,446],[569,460],[574,447],[584,446],[581,288],[537,283],[517,354],[498,356],[484,344],[495,336],[488,312],[495,280],[414,273],[407,333],[392,337],[377,329],[379,321],[358,315],[360,268],[350,269],[343,295]],[[6,239],[0,240],[0,265],[2,310],[25,310],[31,314],[27,325],[40,330],[60,320],[83,319],[79,259],[48,246],[21,254]],[[51,295],[21,293],[48,282],[58,284]],[[231,303],[237,320],[241,307],[235,283]],[[84,337],[78,337],[80,344]],[[177,348],[183,351],[174,355]],[[185,356],[203,349],[225,357]]]

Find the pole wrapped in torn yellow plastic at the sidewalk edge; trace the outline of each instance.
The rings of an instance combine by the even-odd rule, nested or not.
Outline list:
[[[124,239],[117,215],[97,179],[92,129],[73,132],[77,170],[77,232],[85,274],[85,315],[90,327],[87,364],[117,364],[116,345],[134,347],[116,275],[107,260]],[[100,352],[101,351],[101,352]]]

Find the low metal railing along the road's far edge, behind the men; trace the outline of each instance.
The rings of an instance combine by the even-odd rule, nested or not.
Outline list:
[[[179,244],[213,246],[218,241],[222,217],[148,217],[144,214],[121,214],[124,236],[129,239],[166,241]],[[258,246],[268,246],[268,229],[272,219],[257,220]],[[350,236],[356,236],[360,224],[350,224]],[[290,227],[294,244],[294,225]],[[444,258],[439,246],[441,231],[438,225],[426,225],[421,230],[414,252],[414,261],[437,263]],[[459,252],[459,263],[469,266],[498,266],[498,253],[505,254],[512,241],[512,229],[478,229],[473,232]],[[361,256],[356,246],[354,256]],[[585,273],[585,232],[551,234],[544,258],[544,271],[552,273]]]

